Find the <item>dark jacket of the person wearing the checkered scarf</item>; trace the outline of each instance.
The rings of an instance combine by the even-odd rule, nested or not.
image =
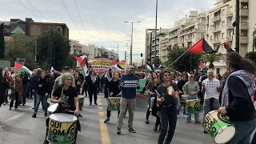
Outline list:
[[[229,86],[229,105],[226,106],[226,116],[230,117],[231,122],[252,120],[255,117],[255,109],[246,84],[235,76],[230,76],[227,84]]]

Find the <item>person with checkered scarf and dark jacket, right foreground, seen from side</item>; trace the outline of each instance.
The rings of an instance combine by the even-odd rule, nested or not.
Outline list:
[[[225,46],[225,45],[224,45]],[[218,110],[228,116],[237,133],[230,144],[250,143],[256,125],[254,98],[254,76],[256,66],[236,52],[226,54],[226,65],[230,76],[222,91],[222,107]],[[253,144],[253,142],[252,142]]]

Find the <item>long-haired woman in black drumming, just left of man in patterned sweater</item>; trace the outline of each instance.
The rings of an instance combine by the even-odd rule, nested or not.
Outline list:
[[[110,97],[121,97],[121,90],[119,89],[119,82],[120,82],[121,74],[117,71],[114,72],[113,77],[110,79]],[[120,114],[120,110],[118,110],[118,116]],[[110,121],[110,115],[111,111],[106,109],[106,120],[104,121],[109,122]]]

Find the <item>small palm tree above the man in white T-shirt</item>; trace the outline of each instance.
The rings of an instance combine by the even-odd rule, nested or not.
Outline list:
[[[220,62],[222,60],[222,54],[202,54],[200,59],[205,62],[210,62],[209,69],[214,69],[214,62]]]

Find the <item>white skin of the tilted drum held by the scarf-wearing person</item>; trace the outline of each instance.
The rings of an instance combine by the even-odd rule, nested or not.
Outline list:
[[[226,142],[230,142],[230,140],[234,137],[235,128],[234,126],[226,126],[219,130],[218,134],[214,138],[214,142],[217,144],[222,144]]]

